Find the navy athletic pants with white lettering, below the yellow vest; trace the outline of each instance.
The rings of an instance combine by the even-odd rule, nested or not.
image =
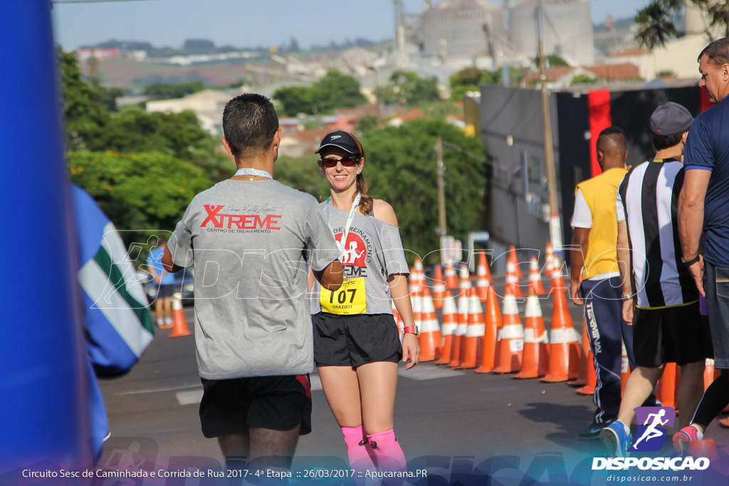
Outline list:
[[[580,291],[585,297],[585,321],[597,378],[593,395],[597,407],[594,420],[609,423],[617,418],[620,409],[623,342],[631,371],[635,368],[633,328],[623,321],[623,286],[619,277],[582,281]],[[655,404],[655,395],[651,394],[644,405]]]

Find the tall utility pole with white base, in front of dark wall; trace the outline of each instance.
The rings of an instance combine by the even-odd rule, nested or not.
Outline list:
[[[549,112],[549,93],[547,93],[547,70],[542,39],[539,39],[539,79],[542,80],[542,127],[545,141],[545,165],[547,168],[547,191],[549,192],[549,235],[555,253],[562,256],[562,224],[559,219],[557,202],[557,178],[554,168],[554,145],[552,141],[552,121]]]

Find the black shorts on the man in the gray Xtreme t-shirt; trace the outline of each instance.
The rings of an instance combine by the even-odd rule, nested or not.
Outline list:
[[[309,375],[265,376],[206,380],[200,401],[203,435],[245,434],[249,427],[311,432]]]

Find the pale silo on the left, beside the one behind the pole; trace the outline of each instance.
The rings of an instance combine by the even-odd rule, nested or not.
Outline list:
[[[423,12],[422,38],[428,55],[472,57],[504,49],[504,11],[488,0],[441,0]]]

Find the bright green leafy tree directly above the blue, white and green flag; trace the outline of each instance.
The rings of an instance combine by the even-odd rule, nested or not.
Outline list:
[[[82,150],[69,155],[71,181],[86,189],[126,243],[172,230],[198,192],[211,186],[204,171],[168,154]]]

